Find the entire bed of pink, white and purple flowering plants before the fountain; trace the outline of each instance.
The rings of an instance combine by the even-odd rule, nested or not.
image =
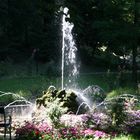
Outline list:
[[[74,115],[64,114],[67,108],[63,108],[62,104],[58,105],[56,100],[49,104],[47,111],[40,111],[46,113],[44,117],[35,117],[32,122],[26,121],[22,125],[15,123],[16,139],[88,140],[111,138],[118,132],[139,134],[140,110],[134,110],[135,101],[137,102],[133,98],[121,96],[106,102],[107,110],[104,112]],[[48,119],[51,119],[50,125]]]

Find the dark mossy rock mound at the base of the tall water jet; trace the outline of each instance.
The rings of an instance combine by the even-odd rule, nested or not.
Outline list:
[[[75,95],[75,93],[72,91],[58,91],[54,86],[50,86],[47,91],[43,91],[42,97],[36,99],[36,105],[38,108],[40,108],[42,105],[47,108],[49,103],[58,100],[63,107],[68,108],[67,111],[76,113],[78,109],[76,97],[77,95]]]

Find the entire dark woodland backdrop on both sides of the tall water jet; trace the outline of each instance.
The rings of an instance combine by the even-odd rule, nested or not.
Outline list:
[[[60,7],[69,8],[82,65],[98,71],[125,67],[137,83],[139,0],[0,0],[0,71],[6,62],[29,67],[34,61],[36,72],[40,63],[60,66]]]

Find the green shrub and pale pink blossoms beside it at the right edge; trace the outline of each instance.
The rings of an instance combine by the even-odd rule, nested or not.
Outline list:
[[[137,128],[137,117],[139,116],[139,112],[136,110],[138,109],[137,106],[139,106],[139,104],[139,96],[132,94],[121,94],[106,99],[107,112],[112,118],[112,128],[115,129],[115,131],[124,133],[124,129],[127,128],[127,124],[130,122],[130,125],[134,125]],[[134,118],[135,121],[129,121]]]

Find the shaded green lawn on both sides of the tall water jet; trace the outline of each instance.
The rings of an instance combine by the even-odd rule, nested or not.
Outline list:
[[[102,74],[82,74],[76,80],[78,89],[85,89],[89,85],[99,85],[104,91],[110,92],[109,97],[121,94],[120,91],[124,90],[127,93],[134,93],[135,90],[131,86],[130,74],[125,76],[125,86],[120,90],[117,81],[117,74],[107,75]],[[65,82],[68,81],[65,79]],[[65,83],[64,82],[64,83]],[[0,91],[14,92],[24,95],[26,97],[33,95],[36,96],[41,91],[46,90],[50,85],[56,88],[61,88],[61,77],[47,77],[47,76],[24,76],[24,77],[10,77],[1,78]]]

